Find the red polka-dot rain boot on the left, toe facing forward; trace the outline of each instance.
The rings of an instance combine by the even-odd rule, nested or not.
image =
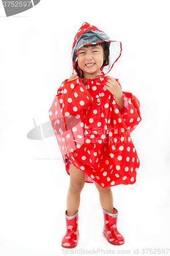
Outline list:
[[[67,216],[67,211],[65,211],[66,219],[66,234],[61,241],[61,246],[66,248],[76,247],[79,238],[79,229],[78,229],[78,217],[79,210],[74,216]]]

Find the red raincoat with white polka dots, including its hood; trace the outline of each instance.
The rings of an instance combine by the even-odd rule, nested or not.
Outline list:
[[[85,182],[96,182],[102,187],[133,184],[139,159],[130,133],[141,121],[138,99],[124,94],[124,110],[120,114],[114,96],[104,88],[107,74],[121,55],[122,46],[98,28],[84,23],[75,36],[72,56],[81,46],[108,41],[109,65],[95,78],[62,82],[49,111],[57,142],[69,174],[69,159],[81,172]],[[118,79],[116,81],[119,84]],[[119,84],[120,85],[120,84]]]

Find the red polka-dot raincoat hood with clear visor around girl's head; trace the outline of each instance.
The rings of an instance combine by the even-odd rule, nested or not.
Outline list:
[[[90,25],[89,23],[87,22],[83,23],[81,28],[78,30],[74,39],[74,44],[72,45],[72,52],[71,52],[72,66],[73,66],[72,73],[77,74],[75,71],[75,66],[79,57],[78,56],[79,49],[85,45],[95,45],[104,41],[109,43],[109,52],[110,52],[109,63],[106,62],[105,66],[101,68],[101,72],[103,72],[103,74],[106,75],[112,69],[114,63],[120,57],[122,52],[122,44],[119,41],[111,40],[105,32]]]

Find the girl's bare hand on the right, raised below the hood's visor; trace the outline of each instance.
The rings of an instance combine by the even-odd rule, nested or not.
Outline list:
[[[107,80],[106,85],[104,86],[111,94],[114,95],[114,98],[121,98],[123,96],[123,92],[119,86],[119,84],[116,82],[116,80],[109,76],[109,79]]]

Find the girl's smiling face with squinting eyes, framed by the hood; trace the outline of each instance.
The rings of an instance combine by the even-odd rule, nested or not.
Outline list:
[[[78,54],[78,66],[84,78],[94,78],[100,73],[104,61],[104,52],[101,45],[81,47]]]

